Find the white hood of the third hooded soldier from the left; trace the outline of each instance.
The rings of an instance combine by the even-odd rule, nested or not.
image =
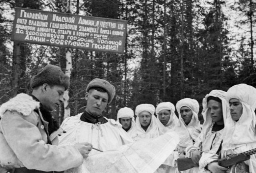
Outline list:
[[[175,127],[178,124],[178,117],[174,113],[174,111],[175,111],[174,104],[172,104],[171,102],[159,103],[156,107],[156,115],[157,115],[158,120],[159,120],[158,113],[162,110],[170,110],[170,112],[171,112],[170,119],[169,119],[168,123],[164,126],[166,127],[166,130],[172,129],[173,127]]]

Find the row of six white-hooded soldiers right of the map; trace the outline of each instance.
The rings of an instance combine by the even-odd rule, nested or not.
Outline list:
[[[191,98],[184,98],[176,103],[178,118],[174,113],[174,105],[162,102],[155,110],[157,118],[154,117],[153,105],[141,104],[135,110],[136,122],[133,111],[127,107],[118,111],[117,121],[134,140],[154,138],[171,129],[178,133],[180,141],[174,151],[178,153],[178,157],[176,155],[174,160],[186,157],[191,158],[194,163],[194,168],[181,171],[183,173],[225,173],[230,171],[230,167],[220,166],[218,159],[256,149],[256,89],[239,84],[230,87],[227,92],[212,90],[204,97],[202,105],[202,125],[198,120],[198,101]],[[147,121],[145,115],[151,117],[151,121],[150,118]],[[238,163],[243,171],[237,173],[256,173],[255,155]],[[179,172],[175,164],[165,164],[168,168],[164,172]]]

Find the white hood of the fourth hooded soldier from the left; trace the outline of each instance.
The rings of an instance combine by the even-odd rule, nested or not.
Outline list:
[[[188,125],[184,123],[180,114],[180,109],[184,106],[192,111],[192,119]],[[198,120],[199,104],[195,99],[184,98],[176,103],[176,109],[179,114],[179,123],[176,126],[175,131],[180,135],[181,140],[179,145],[188,147],[189,145],[192,145],[192,139],[196,141],[196,138],[202,131],[200,121]]]

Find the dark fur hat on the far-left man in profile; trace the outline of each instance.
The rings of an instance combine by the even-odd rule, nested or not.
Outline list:
[[[65,90],[67,90],[69,87],[69,77],[62,72],[60,67],[49,64],[38,70],[36,75],[31,78],[30,87],[34,88],[45,83],[64,86]]]

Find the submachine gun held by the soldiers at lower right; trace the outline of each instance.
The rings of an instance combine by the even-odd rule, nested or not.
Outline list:
[[[230,173],[239,173],[239,171],[242,171],[241,173],[249,173],[248,166],[242,163],[249,160],[250,155],[255,153],[256,149],[251,149],[243,153],[228,155],[227,157],[216,160],[216,162],[222,167],[230,168]],[[195,165],[190,158],[179,158],[177,159],[177,166],[179,171],[185,171],[197,165]]]

